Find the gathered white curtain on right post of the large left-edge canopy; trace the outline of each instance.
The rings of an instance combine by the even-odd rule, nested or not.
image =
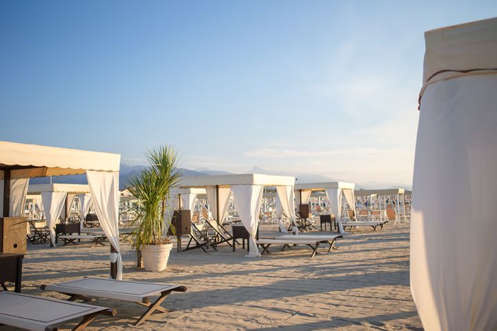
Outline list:
[[[116,278],[122,279],[119,250],[119,172],[88,170],[86,178],[100,226],[116,251],[110,253],[110,262],[117,263]]]

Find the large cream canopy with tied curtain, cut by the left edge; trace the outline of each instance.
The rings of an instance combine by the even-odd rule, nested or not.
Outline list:
[[[111,276],[121,279],[120,160],[119,154],[0,141],[0,210],[3,210],[3,217],[22,216],[30,178],[86,173],[95,212],[111,245]],[[59,208],[56,201],[50,201],[50,206],[52,204],[54,210]]]

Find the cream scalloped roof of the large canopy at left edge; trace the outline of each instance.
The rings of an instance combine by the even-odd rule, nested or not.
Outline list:
[[[121,155],[0,141],[0,170],[32,168],[30,177],[119,171]]]

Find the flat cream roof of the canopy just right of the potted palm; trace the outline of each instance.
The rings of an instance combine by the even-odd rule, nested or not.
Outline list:
[[[291,186],[295,177],[271,176],[269,174],[221,174],[217,176],[183,177],[180,188],[228,188],[230,185]]]

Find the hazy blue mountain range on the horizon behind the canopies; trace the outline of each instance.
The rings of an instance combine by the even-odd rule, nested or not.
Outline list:
[[[121,168],[119,170],[119,189],[126,188],[128,185],[130,178],[135,177],[139,174],[139,172],[145,168],[144,165],[127,165],[121,164]],[[219,171],[219,170],[209,170],[207,168],[197,168],[195,170],[179,168],[179,171],[182,172],[183,176],[213,176],[218,174],[232,174],[232,172],[227,171]],[[275,174],[280,176],[295,176],[297,179],[297,183],[323,183],[327,181],[338,181],[337,179],[333,179],[330,177],[322,176],[320,174],[305,174],[305,173],[289,173],[289,172],[277,172],[277,171],[269,171],[264,170],[262,168],[253,167],[248,170],[246,173],[255,173],[255,174]],[[32,184],[43,184],[50,183],[49,177],[40,177],[33,178],[30,180]],[[71,184],[86,184],[86,175],[77,174],[74,176],[59,176],[52,177],[52,183],[71,183]],[[406,185],[395,185],[395,183],[382,184],[376,183],[373,181],[369,181],[367,183],[356,183],[355,187],[360,189],[373,189],[373,188],[409,188]]]

